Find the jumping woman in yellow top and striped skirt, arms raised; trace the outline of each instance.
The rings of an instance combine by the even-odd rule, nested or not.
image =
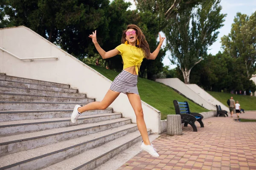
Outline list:
[[[157,49],[153,53],[150,53],[148,42],[145,40],[145,36],[140,28],[136,25],[128,25],[127,29],[122,33],[122,44],[108,52],[104,51],[99,46],[96,38],[96,31],[93,32],[93,34],[90,34],[89,37],[93,40],[97,51],[103,59],[121,54],[124,63],[123,71],[118,74],[118,76],[111,83],[110,89],[101,102],[91,102],[82,107],[80,105],[76,105],[71,115],[71,122],[75,123],[78,117],[84,111],[105,110],[122,92],[128,96],[131,106],[134,109],[137,126],[143,139],[141,148],[147,151],[151,156],[158,157],[158,153],[148,138],[140,95],[137,88],[137,81],[143,58],[155,59],[160,51],[165,37],[161,37],[159,34],[160,42]]]

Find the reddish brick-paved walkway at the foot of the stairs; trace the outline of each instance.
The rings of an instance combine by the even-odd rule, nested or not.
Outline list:
[[[240,114],[256,119],[256,112]],[[183,127],[183,135],[161,135],[152,143],[160,157],[145,151],[127,161],[118,170],[256,170],[256,122],[237,122],[230,117],[204,119],[204,128],[196,123]]]

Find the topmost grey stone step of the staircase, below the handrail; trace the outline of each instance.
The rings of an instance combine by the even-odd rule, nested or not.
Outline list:
[[[23,83],[29,83],[34,85],[47,85],[52,87],[58,87],[58,88],[70,88],[70,85],[56,83],[56,82],[47,82],[42,80],[36,80],[36,79],[27,79],[27,78],[21,78],[21,77],[14,77],[14,76],[7,76],[7,75],[0,75],[1,80],[9,81],[9,82],[23,82]]]

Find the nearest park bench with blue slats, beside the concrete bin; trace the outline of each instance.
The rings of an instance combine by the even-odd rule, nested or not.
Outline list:
[[[189,110],[189,103],[188,102],[178,102],[177,100],[173,101],[175,112],[176,114],[180,115],[181,123],[184,123],[184,127],[191,125],[194,132],[197,132],[197,127],[195,126],[195,121],[198,121],[201,127],[204,127],[204,123],[202,119],[204,118],[203,115],[199,113],[191,113]]]

